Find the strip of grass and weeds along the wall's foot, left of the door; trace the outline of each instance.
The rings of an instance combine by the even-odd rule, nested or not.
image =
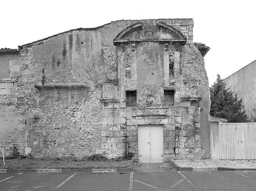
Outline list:
[[[11,159],[6,159],[5,166],[3,160],[0,161],[0,169],[38,169],[38,168],[59,168],[59,169],[81,169],[81,168],[130,168],[133,166],[131,160],[133,153],[115,159],[107,159],[102,154],[93,154],[78,159],[74,155],[67,157],[34,157],[18,155],[15,152]],[[15,158],[14,158],[15,157]]]

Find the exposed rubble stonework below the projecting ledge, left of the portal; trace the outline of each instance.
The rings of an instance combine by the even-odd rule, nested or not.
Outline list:
[[[27,149],[32,149],[33,153],[40,151],[39,156],[55,157],[67,154],[83,157],[95,153],[100,145],[99,96],[100,90],[78,89],[76,92],[55,89],[53,94],[45,94],[40,99],[37,115],[30,119],[26,129]],[[31,145],[34,135],[43,136],[40,150]]]

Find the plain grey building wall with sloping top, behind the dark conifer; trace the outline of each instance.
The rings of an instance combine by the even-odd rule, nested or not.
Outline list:
[[[238,92],[238,98],[243,98],[246,115],[256,120],[256,60],[224,79],[226,87]],[[255,111],[253,111],[253,109]]]

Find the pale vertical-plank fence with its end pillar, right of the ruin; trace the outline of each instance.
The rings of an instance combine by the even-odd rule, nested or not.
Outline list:
[[[211,159],[256,159],[256,123],[210,126]]]

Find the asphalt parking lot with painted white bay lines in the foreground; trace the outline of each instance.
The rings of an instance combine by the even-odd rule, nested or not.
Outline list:
[[[0,173],[1,191],[255,191],[254,171]]]

